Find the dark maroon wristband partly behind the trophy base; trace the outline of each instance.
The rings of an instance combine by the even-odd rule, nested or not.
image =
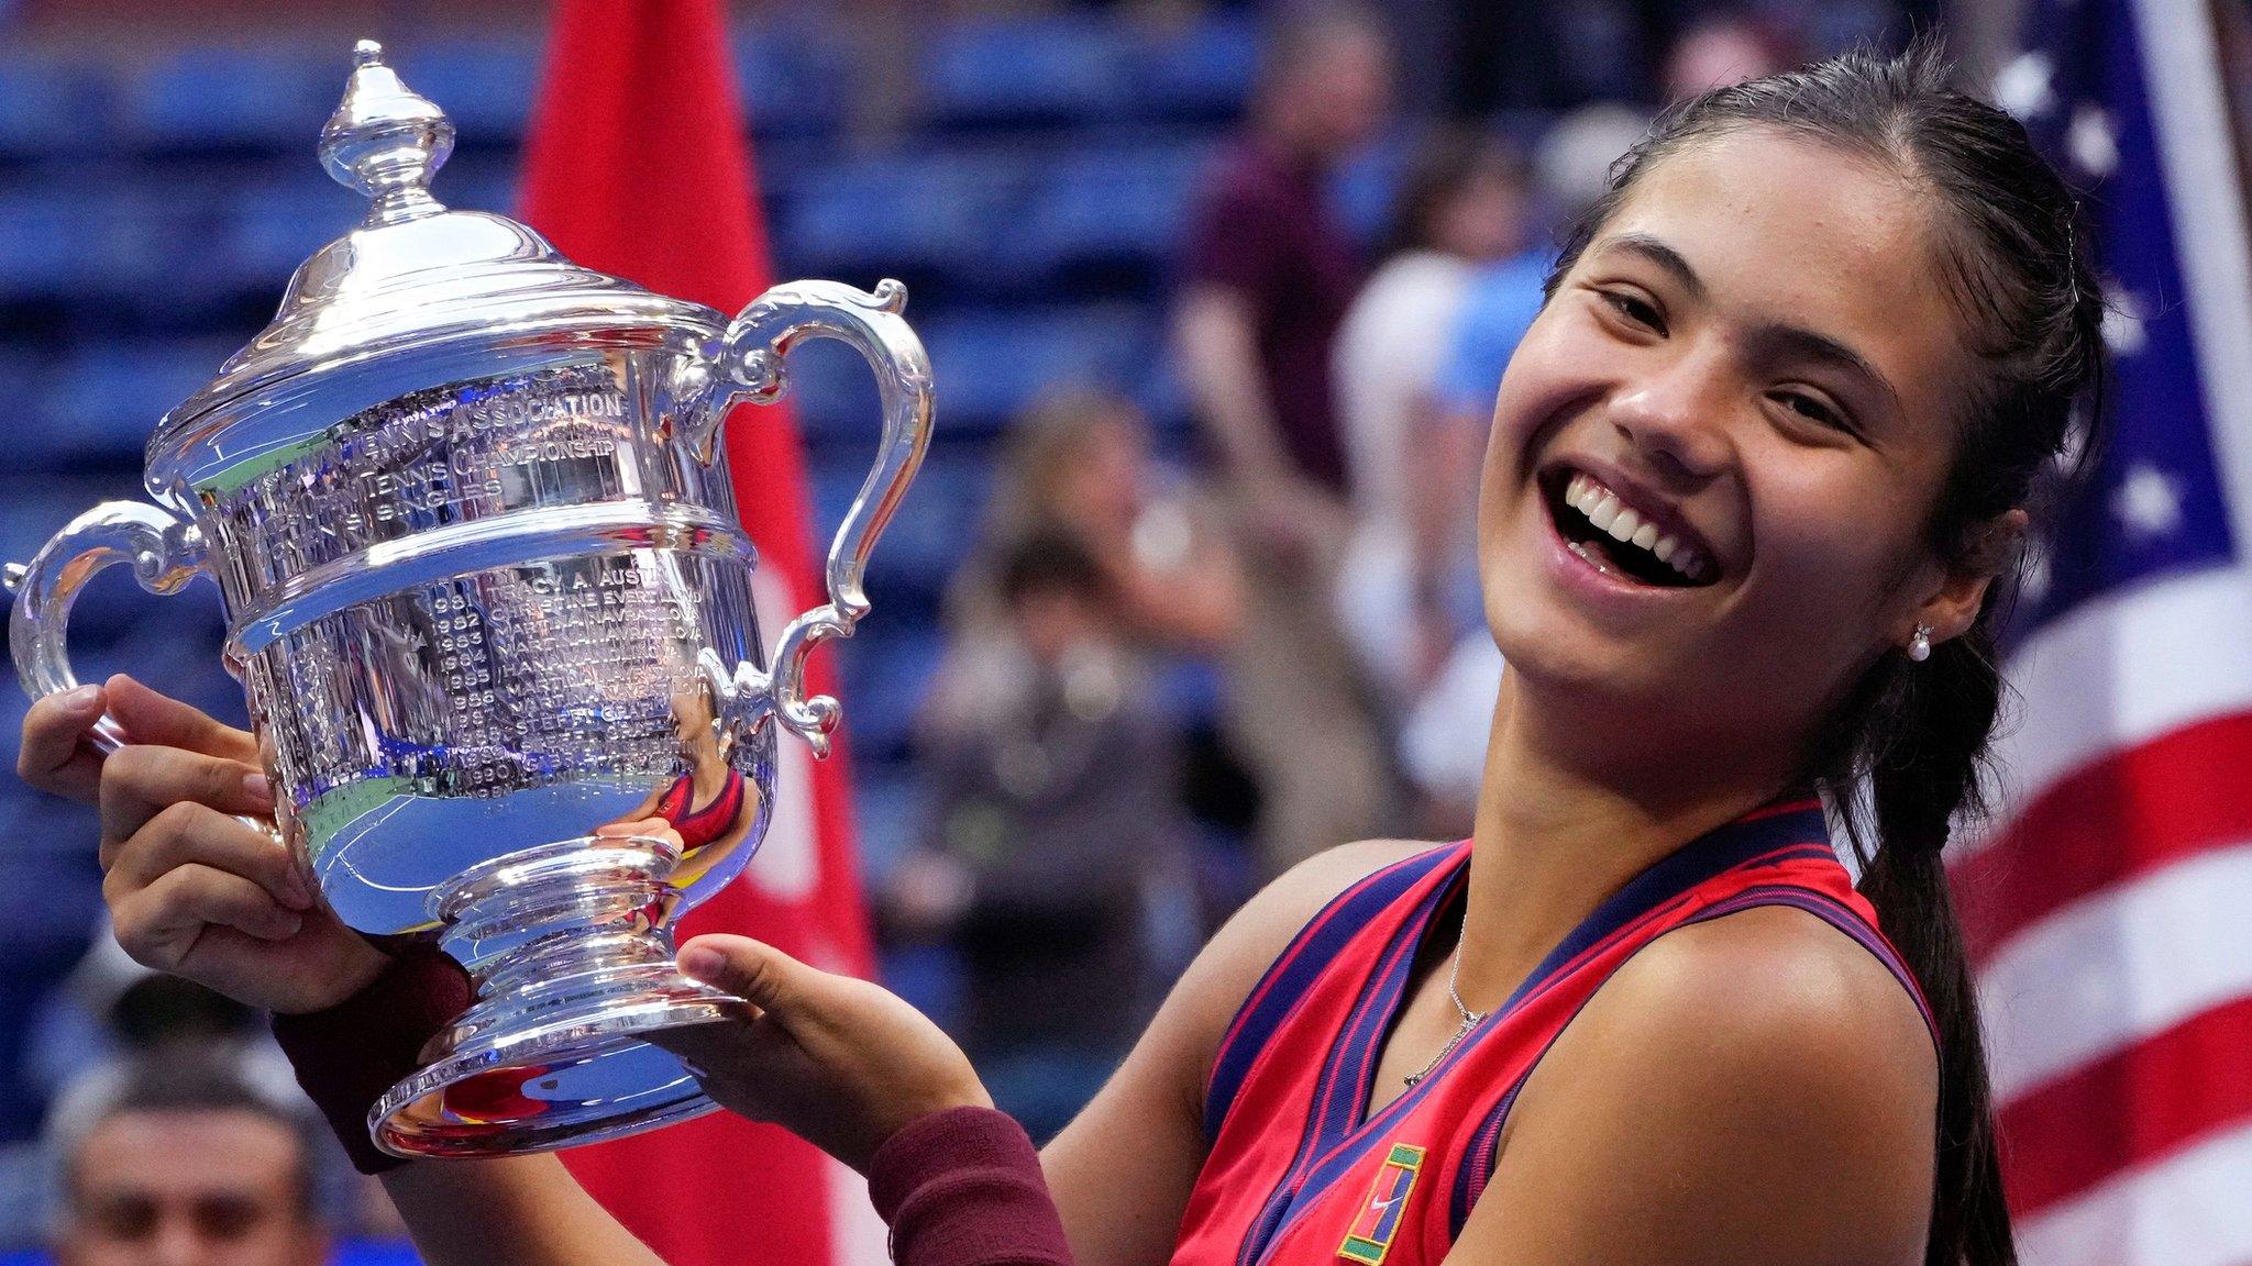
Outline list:
[[[275,1041],[297,1070],[297,1086],[329,1120],[360,1174],[405,1165],[367,1135],[367,1108],[421,1068],[423,1043],[468,1009],[475,984],[437,946],[392,960],[367,989],[327,1011],[275,1016]]]

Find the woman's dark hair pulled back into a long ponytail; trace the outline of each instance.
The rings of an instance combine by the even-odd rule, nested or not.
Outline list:
[[[1980,358],[1957,446],[1925,527],[1950,565],[1998,572],[1970,631],[1912,665],[1885,653],[1826,719],[1806,779],[1844,818],[1860,890],[1916,973],[1939,1023],[1939,1156],[1928,1266],[2013,1264],[1989,1104],[1986,1054],[1961,928],[1939,849],[1957,815],[1986,811],[1989,741],[2002,705],[1995,633],[2016,559],[1993,520],[2034,502],[2101,414],[2103,297],[2076,232],[2076,200],[2007,113],[1948,90],[1939,43],[1853,52],[1714,88],[1651,126],[1610,189],[1567,232],[1545,293],[1572,270],[1653,162],[1698,142],[1772,131],[1862,158],[1928,191],[1939,268]],[[2004,565],[2007,563],[2007,565]]]

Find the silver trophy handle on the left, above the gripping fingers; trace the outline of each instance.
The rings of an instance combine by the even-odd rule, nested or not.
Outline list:
[[[0,579],[16,595],[9,613],[9,653],[25,694],[45,698],[74,689],[70,671],[70,604],[104,568],[133,563],[149,592],[180,592],[205,563],[203,532],[164,509],[137,500],[106,500],[72,518],[38,554],[9,563]],[[104,716],[92,741],[104,752],[126,743],[126,732]]]

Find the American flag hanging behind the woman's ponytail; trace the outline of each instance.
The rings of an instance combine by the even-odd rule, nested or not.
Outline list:
[[[2207,0],[2036,0],[1995,81],[2083,194],[2112,444],[2034,565],[1964,901],[2031,1266],[2252,1264],[2252,252]]]

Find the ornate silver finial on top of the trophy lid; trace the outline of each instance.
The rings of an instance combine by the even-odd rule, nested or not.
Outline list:
[[[367,223],[444,212],[428,185],[450,153],[453,122],[446,113],[383,65],[381,43],[356,43],[345,99],[320,128],[320,162],[338,185],[376,200]]]

